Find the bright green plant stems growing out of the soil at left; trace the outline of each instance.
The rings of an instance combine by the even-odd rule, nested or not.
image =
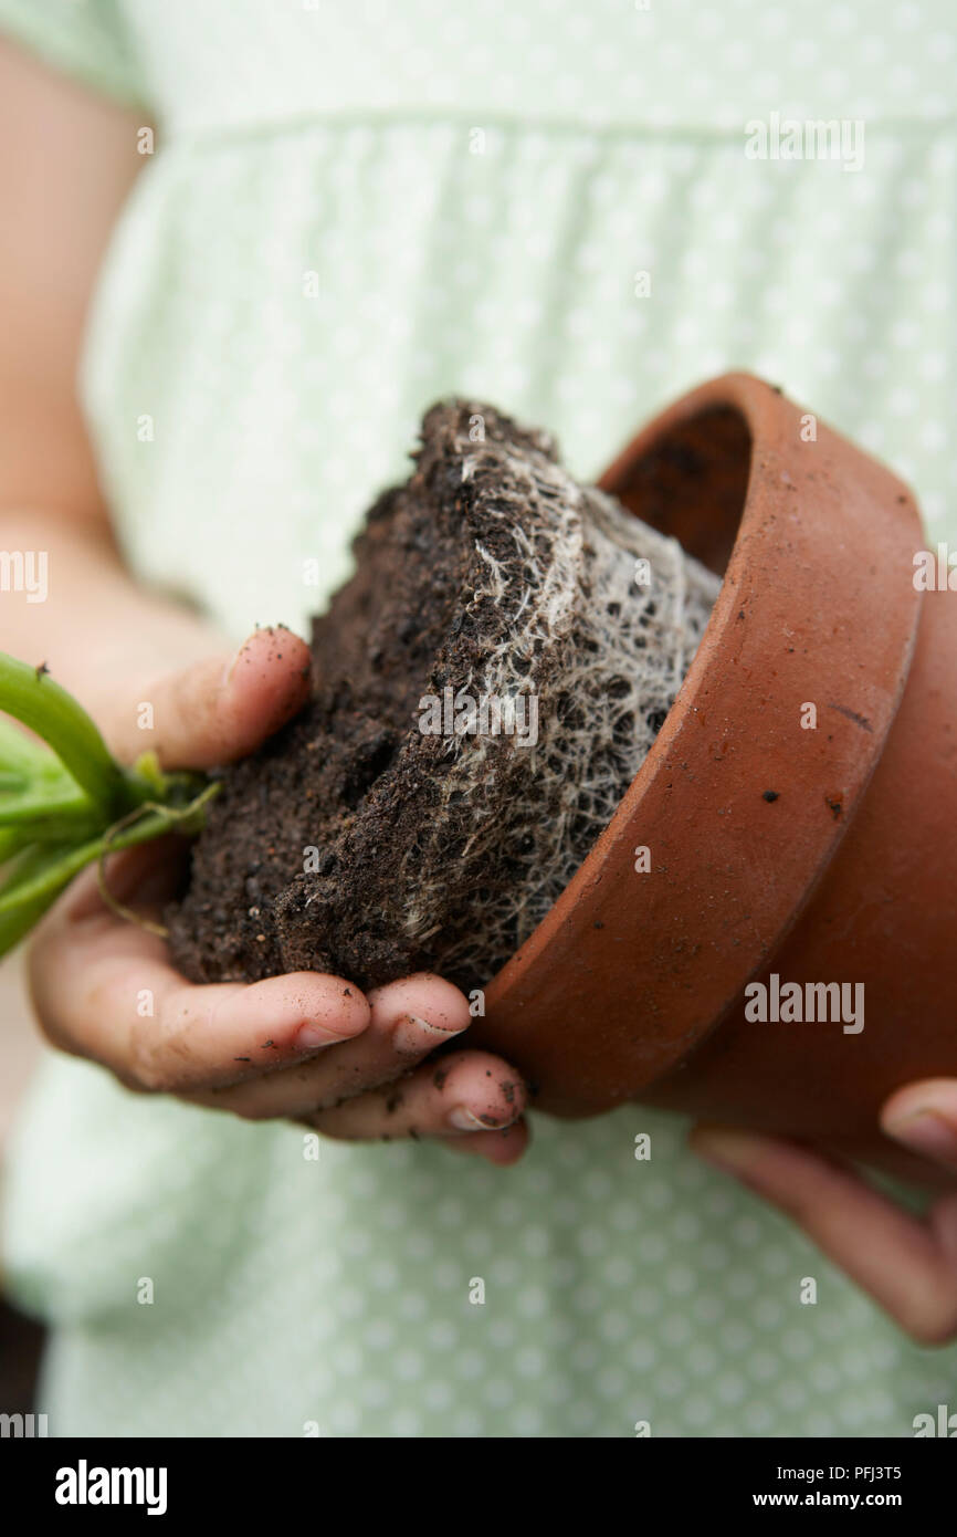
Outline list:
[[[124,768],[46,667],[29,667],[5,652],[0,712],[41,738],[34,741],[0,715],[3,956],[89,864],[98,865],[106,901],[124,911],[106,888],[106,856],[174,828],[198,833],[220,785],[201,773],[163,773],[152,752]]]

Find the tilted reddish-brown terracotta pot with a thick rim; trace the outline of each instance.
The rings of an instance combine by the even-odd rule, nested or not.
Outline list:
[[[558,1116],[641,1099],[932,1182],[876,1117],[902,1084],[957,1074],[957,596],[916,590],[906,486],[811,430],[727,375],[604,475],[724,587],[651,753],[475,1034]],[[745,988],[773,973],[802,999],[863,984],[863,1028],[750,1021]]]

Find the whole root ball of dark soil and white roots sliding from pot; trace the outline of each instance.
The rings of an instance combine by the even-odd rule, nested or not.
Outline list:
[[[662,586],[642,598],[630,550],[645,536]],[[167,915],[184,974],[369,988],[436,970],[484,987],[667,716],[714,581],[685,566],[674,618],[659,596],[674,549],[578,486],[547,433],[435,406],[410,480],[375,503],[355,575],[313,621],[310,702],[223,775]],[[541,738],[419,729],[422,696],[485,690],[535,695]]]

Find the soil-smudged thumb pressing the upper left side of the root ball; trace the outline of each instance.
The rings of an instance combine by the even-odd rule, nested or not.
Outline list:
[[[233,656],[209,656],[140,687],[111,712],[112,752],[134,762],[155,752],[163,768],[215,768],[253,752],[309,698],[310,656],[284,629],[257,630]],[[151,707],[144,729],[143,707]]]

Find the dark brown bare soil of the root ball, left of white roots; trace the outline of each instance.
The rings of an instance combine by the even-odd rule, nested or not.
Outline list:
[[[174,961],[192,981],[318,970],[373,987],[436,964],[435,936],[410,941],[384,915],[396,901],[399,864],[409,868],[419,830],[439,810],[450,868],[472,830],[469,807],[442,796],[442,739],[418,730],[419,698],[481,673],[508,636],[504,606],[470,601],[476,541],[504,570],[515,561],[507,524],[495,515],[501,461],[479,463],[462,480],[462,443],[478,409],[490,440],[507,440],[516,455],[555,458],[545,433],[492,407],[444,403],[429,412],[415,473],[370,509],[353,544],[355,575],[313,621],[310,702],[224,772],[209,807],[189,890],[167,913]],[[527,792],[521,753],[504,755],[496,773],[499,795],[510,773],[515,792]],[[548,813],[541,801],[530,808]],[[485,882],[513,884],[510,865],[508,848],[499,848],[485,862]],[[473,922],[455,881],[442,919],[444,948]],[[469,987],[487,981],[445,974]]]

